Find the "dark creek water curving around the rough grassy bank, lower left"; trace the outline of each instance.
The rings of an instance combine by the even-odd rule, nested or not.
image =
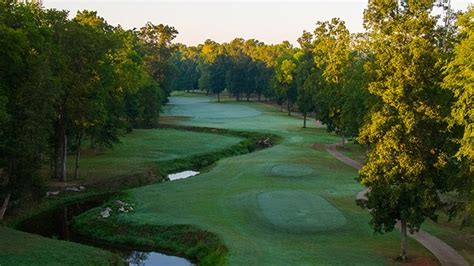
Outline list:
[[[170,256],[160,252],[137,250],[133,247],[117,247],[107,245],[74,233],[71,229],[72,218],[89,209],[98,207],[108,201],[108,197],[97,197],[80,203],[73,203],[58,209],[41,213],[26,220],[21,226],[22,231],[44,237],[77,242],[89,246],[102,248],[118,254],[129,265],[166,265],[188,266],[194,265],[191,261]]]

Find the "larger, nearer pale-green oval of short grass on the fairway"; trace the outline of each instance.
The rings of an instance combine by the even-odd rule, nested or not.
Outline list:
[[[292,233],[329,231],[346,224],[346,218],[326,199],[292,190],[263,192],[257,196],[263,217],[278,230]]]

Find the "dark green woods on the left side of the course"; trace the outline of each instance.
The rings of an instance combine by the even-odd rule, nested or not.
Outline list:
[[[0,169],[4,192],[40,188],[38,170],[67,179],[66,156],[84,142],[111,147],[134,127],[156,126],[171,92],[177,31],[113,27],[96,12],[0,1]],[[86,140],[86,141],[85,141]]]

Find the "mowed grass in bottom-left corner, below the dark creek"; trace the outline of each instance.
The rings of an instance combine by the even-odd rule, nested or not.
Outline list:
[[[116,255],[0,226],[0,265],[120,265]]]

